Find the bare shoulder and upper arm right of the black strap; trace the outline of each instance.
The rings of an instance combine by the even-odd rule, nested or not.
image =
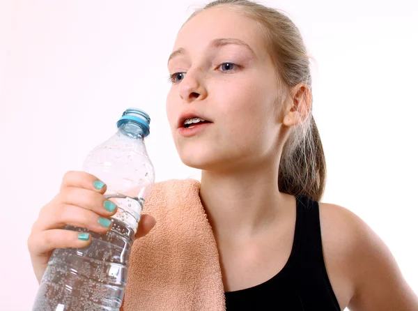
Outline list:
[[[417,296],[378,234],[348,208],[318,204],[325,266],[333,288],[350,293],[350,310],[415,310]]]

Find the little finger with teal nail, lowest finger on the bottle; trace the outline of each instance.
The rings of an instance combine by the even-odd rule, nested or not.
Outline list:
[[[32,234],[28,239],[29,252],[42,255],[55,248],[85,248],[91,243],[91,234],[65,229],[51,229]]]

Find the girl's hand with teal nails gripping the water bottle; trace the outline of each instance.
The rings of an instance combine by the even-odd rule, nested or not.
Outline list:
[[[116,213],[117,207],[104,197],[106,189],[104,183],[86,172],[71,171],[64,175],[59,194],[42,207],[28,238],[33,271],[39,283],[55,248],[84,248],[91,243],[90,234],[85,241],[79,238],[80,232],[65,230],[66,225],[98,233],[111,229],[108,218]],[[141,215],[135,238],[148,234],[154,225],[151,215]]]

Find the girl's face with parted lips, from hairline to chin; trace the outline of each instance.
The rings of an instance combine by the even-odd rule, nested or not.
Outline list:
[[[226,172],[277,158],[277,79],[261,27],[210,8],[183,25],[173,51],[167,117],[183,163]],[[184,128],[191,116],[211,123]]]

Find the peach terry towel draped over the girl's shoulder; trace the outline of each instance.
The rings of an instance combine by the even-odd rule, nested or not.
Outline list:
[[[215,237],[194,179],[155,183],[144,213],[157,224],[134,242],[123,311],[225,310]]]

